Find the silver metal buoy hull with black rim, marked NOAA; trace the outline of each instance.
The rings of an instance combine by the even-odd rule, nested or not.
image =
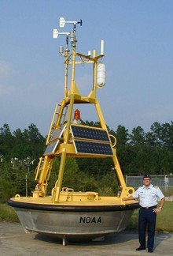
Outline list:
[[[133,205],[35,205],[8,201],[20,223],[28,232],[57,235],[59,238],[96,238],[127,228],[127,223],[138,208]]]

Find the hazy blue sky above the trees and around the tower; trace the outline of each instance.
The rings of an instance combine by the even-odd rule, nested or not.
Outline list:
[[[173,120],[173,1],[0,0],[0,127],[13,132],[34,123],[46,136],[55,105],[64,97],[65,37],[53,39],[59,18],[80,21],[77,51],[100,52],[105,41],[106,85],[97,97],[110,129],[145,132],[153,122]],[[83,93],[90,72],[76,73]],[[97,122],[88,108],[81,118]]]

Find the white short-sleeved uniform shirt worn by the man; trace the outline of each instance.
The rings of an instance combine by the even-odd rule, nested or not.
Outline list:
[[[139,205],[142,207],[151,207],[157,205],[157,201],[164,198],[164,194],[158,186],[150,184],[148,189],[146,189],[145,186],[140,186],[138,190],[132,194],[132,197],[139,199]]]

